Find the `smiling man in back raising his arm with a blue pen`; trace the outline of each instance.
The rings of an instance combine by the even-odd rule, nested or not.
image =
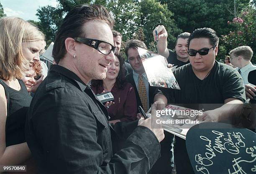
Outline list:
[[[164,25],[159,25],[153,31],[154,40],[156,41],[156,31],[158,33],[157,52],[167,58],[167,62],[173,66],[181,67],[189,63],[187,54],[187,40],[189,32],[183,32],[177,36],[175,42],[175,52],[167,48],[167,31]]]

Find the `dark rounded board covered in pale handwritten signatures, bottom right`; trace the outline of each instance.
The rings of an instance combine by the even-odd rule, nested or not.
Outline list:
[[[196,174],[256,173],[256,134],[248,129],[197,124],[187,133],[186,147]]]

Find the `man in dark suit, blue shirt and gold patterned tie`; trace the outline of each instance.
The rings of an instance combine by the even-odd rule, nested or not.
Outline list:
[[[148,79],[141,62],[141,57],[138,53],[138,47],[147,49],[144,42],[140,40],[128,40],[125,43],[125,54],[127,59],[133,68],[133,72],[126,76],[126,80],[131,83],[135,89],[137,105],[143,107],[145,112],[154,103],[154,92],[156,87],[151,87],[148,83]],[[143,83],[142,83],[143,82]],[[143,86],[144,87],[141,87]],[[146,96],[146,98],[145,98]],[[146,100],[146,101],[145,101]],[[137,111],[138,112],[138,111]],[[171,173],[174,167],[173,164],[173,135],[168,132],[164,132],[165,138],[161,144],[161,158],[151,169],[151,174],[166,174]]]

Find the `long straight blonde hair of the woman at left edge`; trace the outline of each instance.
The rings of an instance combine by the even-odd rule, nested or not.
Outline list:
[[[22,43],[44,40],[44,34],[18,17],[0,18],[0,79],[20,79],[28,60],[22,54]]]

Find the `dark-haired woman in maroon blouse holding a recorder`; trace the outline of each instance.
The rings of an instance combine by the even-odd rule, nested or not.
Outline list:
[[[103,91],[111,92],[114,103],[108,108],[110,122],[131,122],[136,120],[137,102],[133,86],[125,80],[124,59],[115,55],[115,61],[110,62],[104,80],[92,80],[92,90],[95,94]]]

